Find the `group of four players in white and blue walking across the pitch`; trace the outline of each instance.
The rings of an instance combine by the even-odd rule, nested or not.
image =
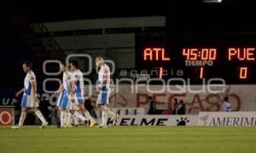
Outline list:
[[[44,128],[48,125],[48,122],[44,119],[41,111],[38,110],[37,80],[32,71],[32,63],[25,61],[22,66],[23,71],[26,73],[24,88],[16,93],[16,96],[23,93],[21,99],[21,114],[18,125],[12,128],[19,129],[23,127],[27,108],[31,108],[32,112],[38,116],[42,122],[40,128]],[[72,60],[69,62],[69,65],[65,63],[60,64],[61,71],[63,72],[62,84],[55,92],[55,94],[59,95],[57,107],[61,112],[61,128],[71,127],[73,120],[75,125],[78,125],[78,118],[83,122],[90,121],[90,127],[108,127],[108,116],[113,121],[113,125],[115,125],[118,116],[107,107],[110,94],[110,70],[101,56],[96,57],[96,66],[100,68],[96,82],[96,92],[98,94],[96,106],[102,111],[102,123],[98,124],[95,119],[90,116],[90,112],[84,108],[83,73],[79,70],[79,62]]]

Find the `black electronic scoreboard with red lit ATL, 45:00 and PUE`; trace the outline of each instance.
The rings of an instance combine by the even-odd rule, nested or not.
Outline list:
[[[138,34],[136,45],[137,71],[152,78],[256,83],[255,34]]]

